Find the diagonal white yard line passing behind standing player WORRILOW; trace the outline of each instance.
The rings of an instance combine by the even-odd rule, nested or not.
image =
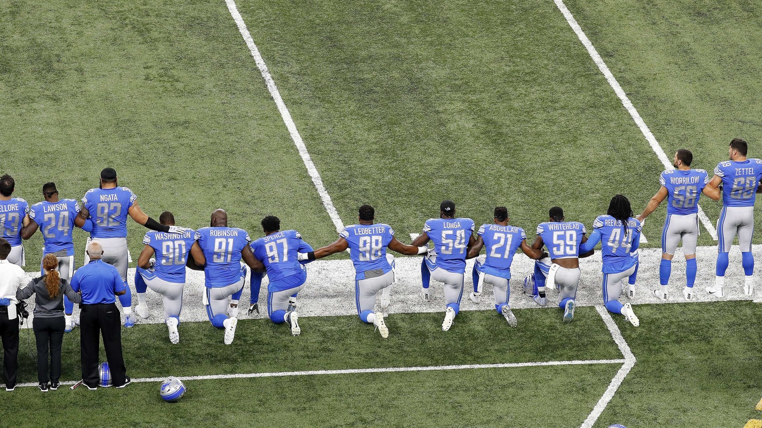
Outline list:
[[[577,37],[582,42],[585,49],[588,50],[588,53],[590,54],[595,64],[598,66],[598,69],[600,69],[600,72],[604,74],[604,77],[606,77],[606,80],[609,82],[609,85],[611,85],[611,88],[613,88],[614,92],[616,92],[616,96],[620,97],[624,108],[626,108],[627,112],[632,117],[632,120],[635,120],[635,123],[640,128],[640,132],[643,133],[643,136],[645,136],[648,144],[651,145],[651,149],[656,153],[659,160],[661,161],[661,164],[664,164],[665,169],[674,169],[672,163],[667,157],[667,154],[664,153],[664,149],[661,149],[661,145],[659,145],[659,142],[656,141],[656,137],[651,132],[651,129],[648,129],[648,126],[643,121],[643,118],[640,117],[640,113],[638,113],[638,110],[636,110],[635,106],[632,105],[632,101],[629,101],[629,97],[627,97],[627,94],[625,94],[625,91],[620,86],[619,81],[616,81],[616,78],[614,78],[614,75],[609,70],[606,62],[604,62],[604,59],[600,57],[598,51],[593,46],[593,43],[591,43],[590,39],[588,39],[588,36],[586,36],[584,31],[582,31],[582,28],[577,23],[574,15],[572,15],[568,8],[566,8],[563,0],[553,1],[559,8],[559,11],[561,11],[561,13],[564,15],[564,18],[566,18],[566,22],[568,22],[571,29],[574,30],[575,34],[577,34]],[[701,222],[709,232],[709,235],[712,236],[712,239],[717,241],[717,229],[714,227],[714,225],[712,225],[712,222],[709,221],[709,217],[706,216],[706,213],[703,209],[701,209],[701,206],[699,206],[699,219],[701,219]]]

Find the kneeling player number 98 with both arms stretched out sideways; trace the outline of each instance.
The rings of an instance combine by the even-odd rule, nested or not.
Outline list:
[[[363,205],[359,209],[357,225],[347,225],[338,234],[333,244],[318,248],[314,252],[299,254],[299,260],[315,260],[331,254],[346,251],[354,264],[354,302],[360,320],[378,328],[381,337],[389,337],[389,328],[383,320],[383,313],[374,312],[376,298],[383,295],[394,283],[394,256],[386,253],[386,248],[400,254],[413,256],[426,254],[428,247],[405,245],[394,237],[392,226],[373,223],[376,210],[373,206]]]

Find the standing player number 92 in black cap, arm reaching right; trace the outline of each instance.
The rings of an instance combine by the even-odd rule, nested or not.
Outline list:
[[[159,224],[140,209],[136,200],[137,196],[132,190],[117,186],[117,171],[114,168],[104,168],[101,171],[101,186],[85,193],[82,209],[75,219],[75,224],[80,228],[88,219],[92,219],[91,241],[101,243],[101,260],[116,267],[122,276],[126,293],[119,296],[119,302],[124,309],[124,327],[132,327],[136,321],[132,315],[133,294],[127,284],[127,216],[139,225],[158,232],[180,235],[185,232],[179,226]]]

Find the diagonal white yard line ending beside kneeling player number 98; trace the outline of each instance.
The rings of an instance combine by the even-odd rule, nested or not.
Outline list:
[[[331,221],[334,223],[336,231],[340,232],[341,229],[344,228],[344,223],[341,222],[341,218],[338,216],[338,211],[336,211],[336,207],[331,200],[331,196],[328,195],[328,191],[325,190],[323,180],[320,177],[320,173],[318,172],[317,168],[315,168],[315,164],[312,162],[312,158],[310,158],[309,152],[307,152],[307,146],[304,144],[302,136],[300,136],[299,131],[296,130],[296,124],[293,123],[291,113],[289,113],[286,104],[283,103],[283,98],[280,97],[280,91],[278,91],[278,88],[275,85],[273,76],[270,75],[270,71],[267,69],[267,65],[264,63],[264,59],[262,59],[257,45],[254,43],[254,39],[251,38],[251,34],[248,32],[248,28],[246,27],[246,24],[243,21],[238,8],[235,6],[235,2],[233,0],[225,0],[225,2],[228,5],[228,11],[230,11],[230,15],[232,16],[233,21],[235,21],[235,24],[239,27],[239,31],[243,36],[243,40],[245,40],[246,46],[248,46],[248,50],[251,51],[251,56],[254,57],[254,60],[257,63],[257,67],[262,73],[264,82],[267,84],[267,90],[270,91],[270,94],[278,107],[278,111],[280,111],[280,116],[283,117],[283,123],[286,123],[288,132],[291,135],[291,139],[293,139],[293,143],[296,145],[296,149],[299,150],[299,156],[302,157],[304,166],[307,167],[309,177],[312,178],[312,183],[315,184],[315,189],[318,190],[320,199],[323,202],[323,206],[325,206],[325,210],[328,211],[328,216],[331,216]]]

